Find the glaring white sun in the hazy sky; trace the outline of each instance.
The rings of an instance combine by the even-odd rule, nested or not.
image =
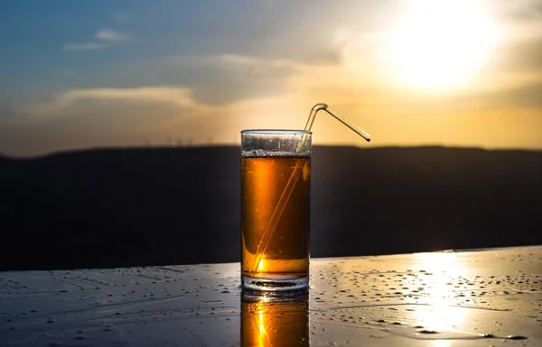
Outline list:
[[[461,87],[488,61],[497,39],[480,1],[416,1],[391,31],[386,61],[408,87]],[[489,6],[489,5],[488,5]]]

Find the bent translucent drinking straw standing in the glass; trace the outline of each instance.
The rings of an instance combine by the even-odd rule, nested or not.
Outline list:
[[[371,136],[368,132],[361,130],[353,123],[350,123],[345,118],[342,118],[327,104],[313,105],[313,108],[311,109],[311,114],[309,114],[309,119],[307,119],[307,123],[305,124],[304,131],[306,132],[311,131],[311,128],[313,127],[313,123],[314,123],[314,118],[316,118],[316,114],[320,110],[324,110],[328,114],[331,114],[338,121],[348,126],[352,131],[356,132],[362,138],[367,140],[367,142],[371,140]],[[303,136],[302,141],[300,142],[296,150],[297,152],[304,151],[304,148],[306,146],[307,135],[304,134],[302,136]],[[267,223],[266,232],[263,234],[262,239],[257,244],[256,257],[252,261],[252,265],[250,265],[250,270],[249,270],[249,275],[251,277],[254,277],[254,275],[256,274],[258,265],[260,261],[262,261],[262,257],[264,256],[264,253],[267,250],[267,246],[269,246],[269,242],[271,242],[271,238],[273,237],[273,234],[275,233],[276,225],[278,224],[278,221],[280,221],[280,217],[285,211],[285,207],[288,204],[288,200],[290,200],[290,196],[292,196],[292,192],[294,192],[294,187],[295,187],[295,184],[297,183],[297,180],[300,178],[303,165],[304,165],[304,160],[303,161],[300,160],[297,162],[297,164],[295,164],[294,172],[292,172],[292,176],[290,176],[290,178],[288,179],[288,183],[286,183],[285,190],[283,191],[282,195],[278,199],[278,203],[276,203],[276,207],[275,207],[275,210],[273,211],[273,215],[271,215],[271,218],[269,219],[269,223]],[[262,249],[262,245],[263,245],[263,249]]]

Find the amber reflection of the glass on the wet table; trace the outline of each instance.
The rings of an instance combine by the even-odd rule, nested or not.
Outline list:
[[[243,291],[241,346],[309,346],[309,295],[257,297]]]

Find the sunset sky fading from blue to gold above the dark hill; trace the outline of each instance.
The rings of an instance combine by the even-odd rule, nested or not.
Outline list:
[[[0,2],[0,153],[238,144],[542,149],[542,0]]]

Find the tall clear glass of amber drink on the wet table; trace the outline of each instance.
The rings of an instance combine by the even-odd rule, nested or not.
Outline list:
[[[311,135],[241,132],[241,282],[244,288],[308,288]]]

